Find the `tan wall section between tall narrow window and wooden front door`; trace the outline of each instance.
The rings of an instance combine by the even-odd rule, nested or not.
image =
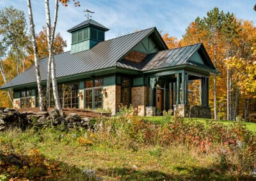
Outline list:
[[[138,115],[144,116],[147,105],[147,87],[132,87],[132,106],[138,108]]]

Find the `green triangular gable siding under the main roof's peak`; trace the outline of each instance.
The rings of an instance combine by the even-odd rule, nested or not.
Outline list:
[[[143,52],[145,54],[152,54],[152,53],[159,52],[159,49],[157,48],[156,43],[154,43],[154,40],[152,40],[152,38],[150,37],[144,38],[132,50],[137,52]]]

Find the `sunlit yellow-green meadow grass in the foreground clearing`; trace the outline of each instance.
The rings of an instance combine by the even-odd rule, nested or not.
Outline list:
[[[54,129],[37,134],[14,130],[0,133],[0,138],[2,144],[11,144],[15,152],[29,154],[29,150],[38,148],[47,159],[57,161],[62,170],[59,180],[86,180],[82,174],[84,168],[95,170],[104,180],[233,179],[218,169],[214,157],[196,154],[181,145],[156,145],[133,152],[100,143],[81,146],[75,141],[60,141],[62,134]]]

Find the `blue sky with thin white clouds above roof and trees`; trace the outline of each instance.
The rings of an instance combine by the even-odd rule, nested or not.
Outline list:
[[[36,33],[45,26],[44,0],[31,0],[35,21]],[[51,9],[54,10],[54,1],[51,2]],[[72,1],[72,0],[70,0]],[[56,32],[60,32],[64,40],[67,40],[70,50],[70,33],[67,30],[77,25],[86,17],[83,10],[91,10],[92,19],[109,28],[106,32],[106,40],[116,38],[137,30],[157,27],[162,33],[169,33],[169,36],[176,36],[178,39],[186,33],[188,25],[196,17],[203,18],[207,11],[218,7],[225,13],[230,11],[237,18],[251,20],[256,25],[256,11],[253,6],[256,0],[79,0],[81,6],[74,7],[70,3],[68,7],[60,4]],[[26,0],[1,0],[0,9],[13,6],[23,10],[28,18],[28,6]],[[53,15],[53,12],[52,12]],[[29,26],[28,26],[29,30]]]

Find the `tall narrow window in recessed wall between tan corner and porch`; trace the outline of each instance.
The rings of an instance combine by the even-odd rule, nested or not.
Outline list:
[[[130,105],[130,94],[131,94],[131,79],[128,77],[122,77],[121,82],[121,103],[124,106]]]

